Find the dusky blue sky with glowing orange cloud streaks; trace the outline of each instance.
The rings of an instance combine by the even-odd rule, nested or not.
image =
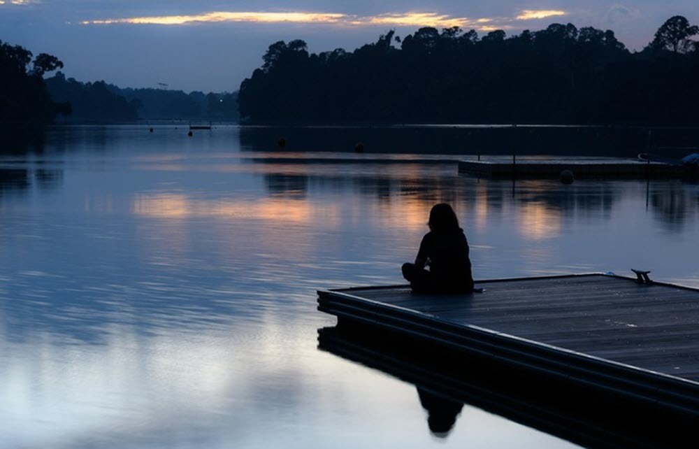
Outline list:
[[[66,76],[82,81],[232,92],[279,40],[301,38],[311,52],[351,51],[390,29],[510,35],[570,22],[612,29],[640,50],[672,15],[699,23],[699,1],[0,0],[0,40],[56,55]]]

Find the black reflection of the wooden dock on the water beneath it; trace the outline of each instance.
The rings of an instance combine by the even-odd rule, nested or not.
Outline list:
[[[318,329],[319,350],[415,385],[415,406],[418,395],[425,392],[437,398],[430,414],[443,416],[454,413],[454,404],[457,410],[459,404],[468,404],[586,448],[693,448],[693,420],[658,420],[656,415],[619,403],[591,406],[586,392],[576,394],[565,386],[556,389],[543,376],[514,375],[497,364],[468,356],[456,364],[448,353],[421,351],[412,343],[368,327],[361,332],[342,327]],[[544,390],[547,394],[542,394]],[[468,421],[468,414],[454,417],[456,427],[463,420]]]

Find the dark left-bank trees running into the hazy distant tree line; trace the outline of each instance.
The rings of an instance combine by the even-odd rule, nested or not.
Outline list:
[[[237,121],[237,92],[122,89],[105,81],[66,78],[57,57],[34,57],[21,45],[0,41],[0,127],[21,124],[29,134],[51,123],[131,122],[135,120]],[[49,73],[57,71],[51,78]]]

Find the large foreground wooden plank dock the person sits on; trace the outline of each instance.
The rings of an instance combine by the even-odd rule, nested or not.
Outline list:
[[[699,290],[598,273],[477,287],[485,291],[322,290],[318,309],[336,315],[340,327],[412,341],[454,364],[475,357],[500,366],[496,371],[524,373],[545,390],[582,391],[583,402],[699,424]]]

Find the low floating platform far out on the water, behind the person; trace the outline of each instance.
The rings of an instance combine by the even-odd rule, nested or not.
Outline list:
[[[642,162],[637,159],[613,157],[488,157],[487,160],[460,160],[459,173],[487,178],[553,178],[570,170],[576,179],[582,178],[686,178],[699,175],[692,166]]]

